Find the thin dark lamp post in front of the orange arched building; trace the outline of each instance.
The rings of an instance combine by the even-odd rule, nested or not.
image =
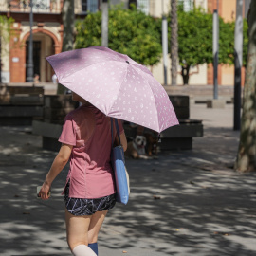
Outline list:
[[[28,62],[27,62],[27,82],[33,82],[34,77],[34,64],[33,64],[33,1],[30,0],[30,35],[29,35],[29,46],[28,46]]]

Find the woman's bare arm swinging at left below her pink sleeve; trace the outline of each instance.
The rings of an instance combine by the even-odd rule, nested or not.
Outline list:
[[[64,166],[66,165],[71,155],[72,149],[73,149],[73,146],[63,144],[58,155],[56,155],[48,174],[46,174],[46,180],[39,192],[39,196],[43,200],[46,200],[49,198],[48,192],[50,191],[50,186],[53,180],[56,178],[56,176],[60,174],[64,169]]]

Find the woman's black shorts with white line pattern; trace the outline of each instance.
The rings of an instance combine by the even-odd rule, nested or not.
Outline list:
[[[66,210],[72,215],[92,215],[96,211],[110,210],[116,205],[116,194],[107,195],[97,199],[84,199],[68,197],[69,181],[64,190],[64,203]]]

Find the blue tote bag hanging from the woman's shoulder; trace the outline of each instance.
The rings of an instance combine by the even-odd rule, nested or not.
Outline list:
[[[120,145],[120,135],[119,135],[119,124],[118,120],[115,119],[116,130],[119,137],[119,146],[113,147],[114,137],[113,137],[113,119],[111,119],[111,137],[112,137],[112,151],[111,151],[111,161],[112,167],[115,174],[116,181],[116,200],[119,203],[126,205],[129,200],[129,176],[125,168],[125,159],[123,148]]]

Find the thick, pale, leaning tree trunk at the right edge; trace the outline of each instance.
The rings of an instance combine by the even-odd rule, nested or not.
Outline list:
[[[240,144],[235,162],[239,172],[256,171],[256,1],[250,3],[248,39]]]

